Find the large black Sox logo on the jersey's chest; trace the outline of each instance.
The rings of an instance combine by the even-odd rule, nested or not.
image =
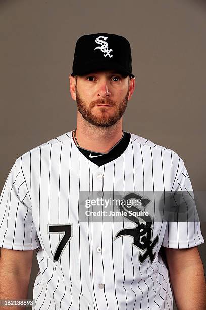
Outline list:
[[[121,200],[121,202],[123,201],[127,202],[130,199],[137,199],[137,200],[140,199],[143,207],[146,207],[148,203],[150,202],[148,198],[143,198],[141,195],[138,195],[134,192],[128,193]],[[129,215],[128,211],[137,212],[137,211],[142,211],[142,210],[138,209],[136,206],[132,206],[131,208],[128,209],[127,204],[125,206],[121,202],[120,202],[120,211],[126,212],[127,215],[124,217],[136,223],[137,226],[135,228],[121,229],[116,234],[114,240],[124,235],[133,237],[134,239],[133,245],[135,245],[141,251],[145,251],[143,255],[139,253],[138,259],[140,263],[143,263],[145,259],[147,258],[147,256],[150,257],[150,260],[152,262],[155,259],[155,255],[153,254],[152,249],[153,247],[155,247],[156,243],[158,243],[158,240],[159,240],[158,236],[156,236],[156,238],[153,241],[151,239],[151,232],[153,230],[153,228],[151,228],[152,218],[149,215],[142,215],[141,217],[139,216],[144,222],[146,222],[146,224],[144,223],[140,224],[140,221],[138,220],[138,218],[136,216]]]

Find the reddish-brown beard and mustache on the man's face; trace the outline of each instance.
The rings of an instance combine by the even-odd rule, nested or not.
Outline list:
[[[100,126],[100,127],[109,127],[117,123],[119,119],[124,114],[127,102],[129,97],[129,88],[126,96],[118,105],[115,101],[111,99],[97,99],[92,101],[89,107],[86,106],[85,102],[80,98],[80,95],[76,88],[76,101],[77,101],[77,109],[81,113],[82,117],[92,125]],[[94,115],[92,113],[92,108],[98,104],[109,104],[113,106],[114,113],[112,115],[108,115],[107,109],[108,107],[99,107],[100,115]]]

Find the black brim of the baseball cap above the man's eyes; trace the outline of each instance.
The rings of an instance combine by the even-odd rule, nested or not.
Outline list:
[[[123,74],[125,76],[129,75],[132,76],[132,78],[134,78],[135,76],[130,73],[129,71],[127,71],[122,65],[120,65],[119,63],[108,63],[108,61],[101,61],[101,62],[90,62],[87,64],[84,64],[82,66],[82,70],[73,72],[71,75],[85,75],[85,74],[90,74],[90,73],[94,73],[97,71],[105,71],[105,70],[117,70],[117,73]]]

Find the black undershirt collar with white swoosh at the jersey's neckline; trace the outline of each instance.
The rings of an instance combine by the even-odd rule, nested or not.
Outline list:
[[[78,147],[78,149],[86,158],[88,158],[88,160],[90,160],[91,162],[93,162],[94,164],[98,166],[102,166],[118,158],[126,150],[127,146],[129,145],[130,138],[131,138],[131,134],[123,131],[123,136],[120,139],[120,141],[115,146],[113,146],[112,149],[106,154],[92,152],[80,146]],[[91,157],[91,156],[96,156],[96,157]]]

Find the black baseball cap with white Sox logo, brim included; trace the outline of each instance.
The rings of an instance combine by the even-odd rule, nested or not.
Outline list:
[[[71,75],[102,70],[116,70],[134,78],[130,43],[125,37],[101,32],[78,38]]]

